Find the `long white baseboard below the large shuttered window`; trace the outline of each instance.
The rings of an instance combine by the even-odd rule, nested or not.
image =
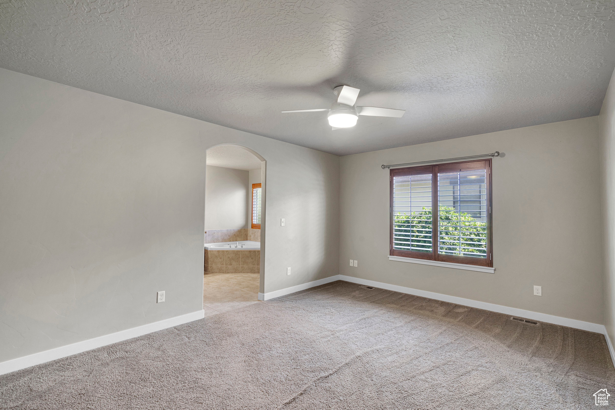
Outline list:
[[[531,310],[517,309],[516,307],[508,307],[496,305],[488,302],[473,301],[472,299],[458,298],[457,296],[449,296],[448,294],[429,292],[425,290],[418,290],[413,288],[406,288],[405,286],[389,285],[388,283],[375,282],[374,280],[367,280],[361,278],[355,278],[352,276],[339,275],[339,280],[345,280],[346,282],[359,283],[359,285],[373,286],[375,288],[381,288],[386,290],[392,290],[400,293],[414,294],[416,296],[423,296],[423,298],[436,299],[437,301],[454,303],[462,306],[475,307],[477,309],[491,310],[491,312],[504,313],[505,315],[518,316],[526,319],[533,319],[538,321],[544,321],[546,323],[553,323],[554,325],[568,326],[569,328],[587,330],[595,333],[605,334],[605,326],[598,325],[598,323],[591,323],[589,321],[582,321],[576,319],[569,319],[565,317],[559,317],[554,315],[547,315],[546,313],[532,312]]]

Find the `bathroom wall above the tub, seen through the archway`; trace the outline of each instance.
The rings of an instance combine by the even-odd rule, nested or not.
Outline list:
[[[246,205],[250,199],[248,177],[248,171],[207,165],[205,229],[250,227]]]

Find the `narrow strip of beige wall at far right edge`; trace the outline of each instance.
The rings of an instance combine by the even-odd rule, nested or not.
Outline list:
[[[615,341],[615,74],[598,116],[604,251],[605,326]]]

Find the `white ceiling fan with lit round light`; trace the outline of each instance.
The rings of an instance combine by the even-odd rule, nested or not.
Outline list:
[[[357,124],[359,116],[375,116],[375,117],[396,117],[401,118],[405,109],[379,108],[379,107],[357,107],[357,97],[359,97],[359,89],[354,89],[348,85],[340,85],[333,89],[333,93],[338,96],[338,101],[331,105],[331,108],[317,109],[293,109],[291,111],[282,112],[313,112],[313,111],[328,111],[327,114],[329,125],[333,130],[339,128],[354,127]]]

